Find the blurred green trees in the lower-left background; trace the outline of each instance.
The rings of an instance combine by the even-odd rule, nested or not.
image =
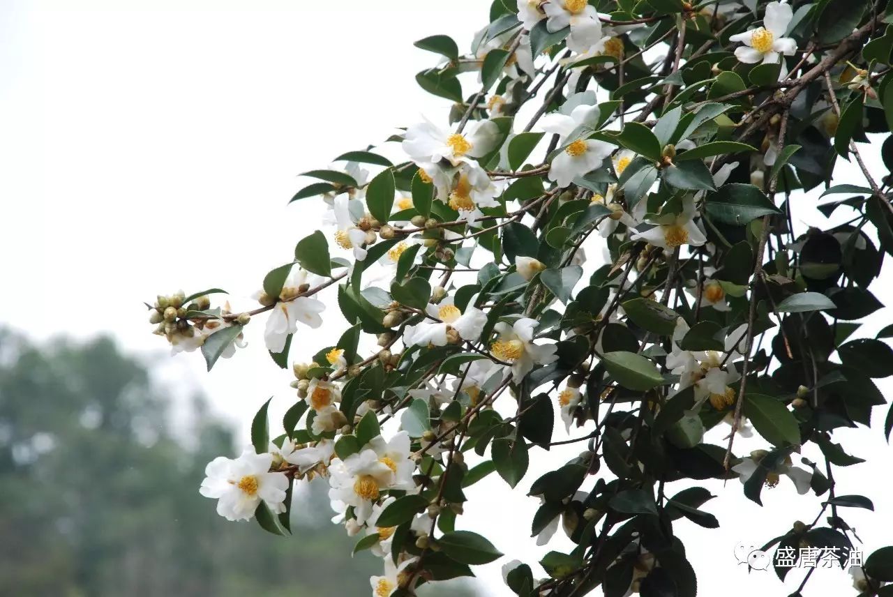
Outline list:
[[[170,401],[108,338],[42,349],[0,330],[0,594],[370,594],[380,562],[345,567],[354,539],[301,516],[330,512],[327,484],[296,495],[290,539],[217,516],[197,487],[232,430],[201,397],[188,410],[172,426]]]

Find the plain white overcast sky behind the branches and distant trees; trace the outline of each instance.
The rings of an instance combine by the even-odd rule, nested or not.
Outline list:
[[[6,223],[0,323],[47,341],[112,334],[154,363],[171,394],[201,389],[243,429],[272,395],[272,419],[278,419],[294,394],[290,374],[274,369],[263,350],[262,325],[249,326],[248,350],[207,374],[198,353],[167,356],[141,303],[178,288],[219,286],[232,294],[234,309],[251,308],[248,297],[266,271],[290,260],[296,241],[319,225],[321,202],[287,206],[309,182],[296,175],[378,144],[421,114],[445,121],[447,101],[425,94],[413,79],[437,57],[412,43],[447,33],[467,48],[473,30],[486,24],[487,7],[482,0],[0,2]],[[879,161],[872,163],[880,171]],[[845,170],[843,178],[861,182],[857,170]],[[801,201],[814,203],[816,196]],[[827,225],[818,212],[812,218],[799,223]],[[599,252],[594,246],[588,254]],[[891,287],[889,276],[874,286],[881,301],[883,287]],[[334,344],[344,322],[333,299],[330,305],[323,328],[302,328],[296,346],[306,353],[293,350],[293,359]],[[886,319],[889,311],[875,317]],[[859,335],[879,327],[870,324]],[[881,388],[889,390],[889,383]],[[836,473],[839,493],[874,499],[874,513],[844,510],[866,553],[889,542],[893,528],[883,481],[893,454],[881,431],[885,413],[876,409],[872,431],[837,434],[847,445],[858,435],[852,452],[869,459]],[[556,437],[562,435],[563,429]],[[739,453],[763,447],[759,441],[736,446]],[[531,451],[530,472],[517,491],[495,475],[476,485],[459,525],[488,535],[543,576],[535,562],[571,543],[559,532],[547,547],[535,546],[529,530],[538,500],[525,493],[538,473],[579,450]],[[782,587],[772,572],[748,575],[732,550],[739,541],[760,544],[781,535],[796,519],[811,521],[821,500],[797,496],[783,480],[764,492],[761,509],[743,497],[738,482],[705,486],[721,498],[705,510],[722,527],[676,525],[697,570],[699,594],[793,591],[802,571]],[[476,568],[485,594],[510,593],[499,573],[505,560]],[[851,592],[845,572],[820,569],[805,594]]]

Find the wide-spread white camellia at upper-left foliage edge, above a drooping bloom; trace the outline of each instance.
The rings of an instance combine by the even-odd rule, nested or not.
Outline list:
[[[492,120],[472,120],[462,133],[451,133],[425,120],[406,129],[402,145],[403,151],[417,164],[438,164],[446,160],[458,166],[493,151],[498,136],[499,129]]]

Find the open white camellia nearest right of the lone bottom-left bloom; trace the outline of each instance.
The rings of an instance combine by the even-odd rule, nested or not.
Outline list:
[[[370,448],[345,460],[333,459],[329,472],[329,499],[333,504],[353,506],[359,525],[365,524],[371,515],[372,503],[379,501],[380,490],[394,481],[394,470]]]

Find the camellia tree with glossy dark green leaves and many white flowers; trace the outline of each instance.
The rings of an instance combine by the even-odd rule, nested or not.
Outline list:
[[[862,460],[835,431],[869,426],[873,379],[893,374],[889,345],[857,334],[893,254],[893,179],[869,168],[879,154],[893,168],[893,141],[860,153],[893,124],[885,11],[496,0],[469,53],[418,41],[440,58],[416,80],[448,118],[305,172],[319,181],[292,201],[321,197],[326,230],[274,260],[259,307],[213,307],[219,289],[150,307],[155,333],[208,369],[258,319],[276,365],[309,361],[292,364],[281,425],[264,404],[254,450],[213,460],[201,492],[287,534],[295,484],[323,477],[355,551],[383,560],[372,594],[412,595],[502,556],[456,530],[464,490],[493,471],[517,485],[557,413],[582,428],[557,443],[581,453],[532,483],[530,524],[576,547],[507,565],[513,593],[694,595],[674,527],[718,526],[705,479],[739,478],[757,503],[779,483],[822,496],[763,549],[853,564],[846,509],[872,502],[836,487]],[[861,179],[834,184],[841,162]],[[806,228],[816,209],[839,223]],[[336,304],[337,344],[292,345]],[[751,428],[764,447],[736,453]],[[851,568],[860,594],[893,595],[893,547]]]

